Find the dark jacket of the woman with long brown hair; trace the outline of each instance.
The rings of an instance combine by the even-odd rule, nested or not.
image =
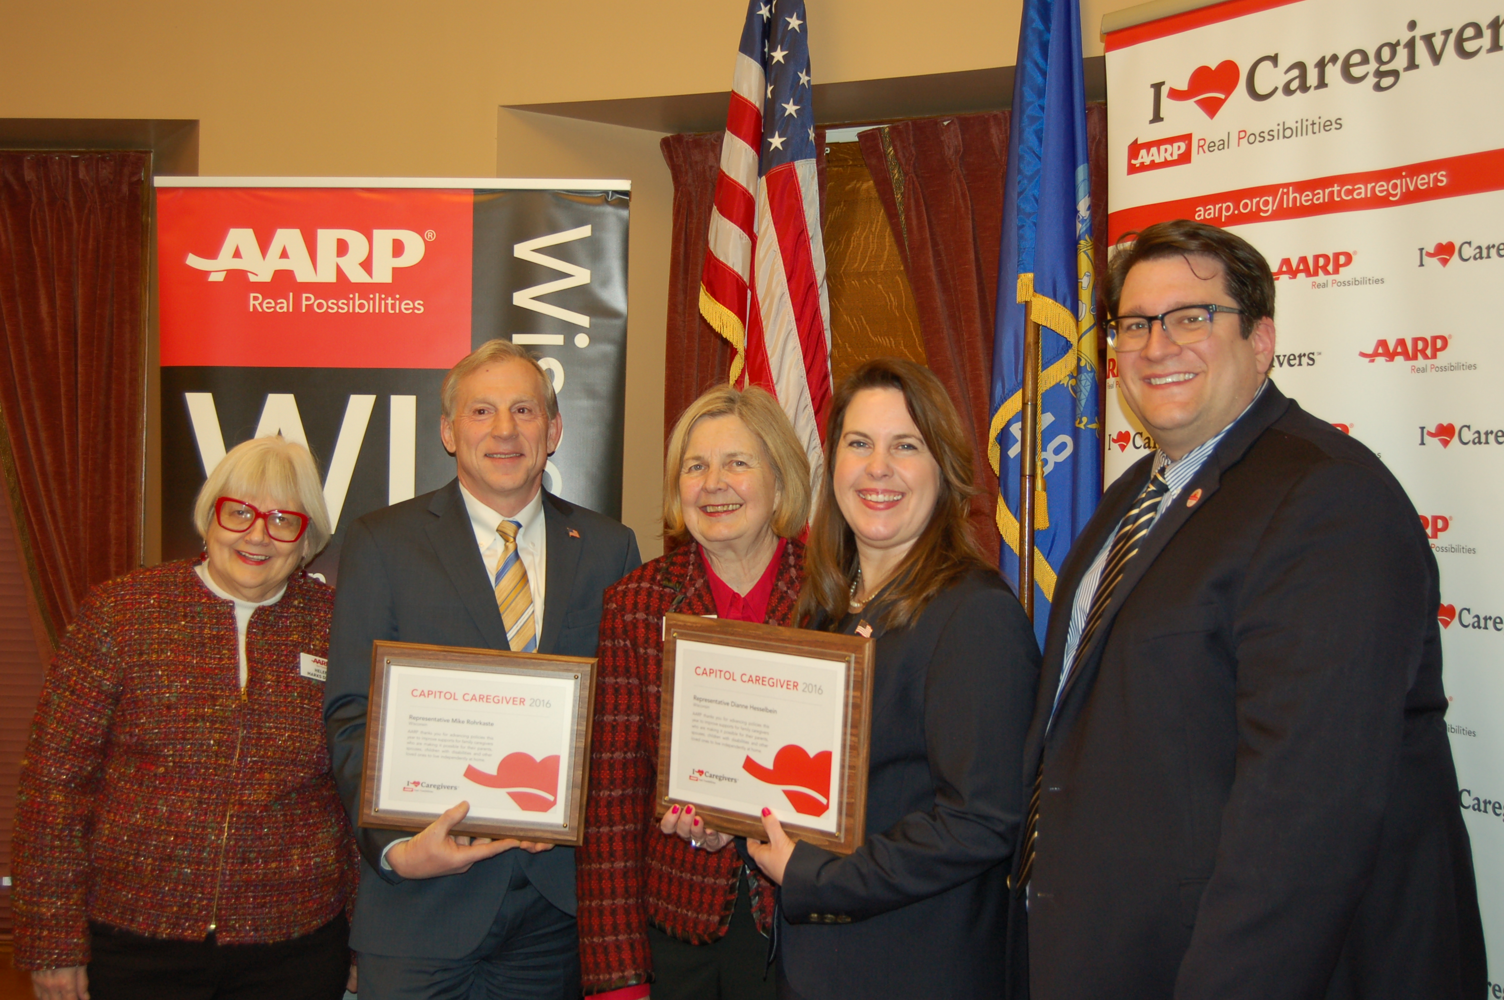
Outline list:
[[[1014,776],[1039,678],[1033,629],[997,573],[978,568],[911,627],[875,638],[866,842],[844,859],[794,848],[784,974],[809,1000],[996,995],[1024,808]]]

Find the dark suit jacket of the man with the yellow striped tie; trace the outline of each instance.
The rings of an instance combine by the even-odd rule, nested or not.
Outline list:
[[[600,598],[642,561],[630,528],[543,493],[547,531],[540,653],[596,656]],[[578,532],[578,537],[570,534]],[[334,776],[359,812],[365,759],[365,699],[371,642],[432,642],[505,650],[507,630],[475,546],[459,480],[441,490],[365,514],[340,552],[340,585],[329,632],[323,719]],[[460,958],[474,950],[501,907],[514,865],[543,896],[575,913],[575,851],[507,851],[462,875],[406,881],[381,868],[396,830],[358,829],[361,890],[350,947],[396,956]]]

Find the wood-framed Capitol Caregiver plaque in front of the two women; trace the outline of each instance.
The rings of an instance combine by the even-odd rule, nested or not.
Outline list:
[[[847,854],[866,818],[872,642],[693,615],[663,620],[659,817],[689,803],[764,838],[764,808]]]

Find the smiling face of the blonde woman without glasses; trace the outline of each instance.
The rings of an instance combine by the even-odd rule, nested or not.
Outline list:
[[[684,528],[714,555],[750,552],[772,534],[778,478],[740,417],[705,417],[689,432],[678,471]]]

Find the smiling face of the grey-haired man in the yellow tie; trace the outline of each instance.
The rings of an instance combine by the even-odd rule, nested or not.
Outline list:
[[[504,517],[537,495],[543,468],[562,433],[562,417],[549,420],[541,379],[523,361],[471,371],[456,386],[454,415],[439,420],[439,436],[454,453],[460,484]]]

